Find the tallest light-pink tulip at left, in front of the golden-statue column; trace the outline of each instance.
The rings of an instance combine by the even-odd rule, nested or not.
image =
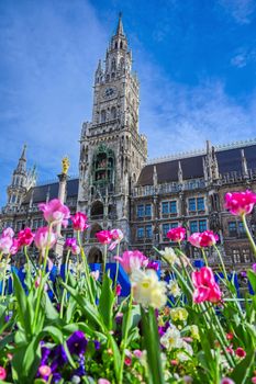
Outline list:
[[[62,223],[64,227],[68,225],[70,211],[60,200],[54,199],[48,203],[41,203],[38,207],[44,213],[44,218],[48,224],[57,225]]]

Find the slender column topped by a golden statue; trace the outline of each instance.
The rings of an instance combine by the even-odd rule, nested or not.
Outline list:
[[[67,190],[67,180],[68,180],[68,169],[69,169],[69,159],[68,157],[65,157],[63,160],[63,169],[62,173],[58,174],[58,200],[64,204],[65,197],[66,197],[66,190]],[[55,253],[56,253],[56,259],[57,263],[60,263],[60,260],[63,259],[63,250],[64,250],[64,244],[65,244],[65,238],[62,236],[62,223],[59,223],[56,227],[56,234],[57,234],[57,242],[55,246]]]

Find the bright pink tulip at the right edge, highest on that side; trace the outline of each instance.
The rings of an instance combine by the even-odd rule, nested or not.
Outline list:
[[[233,215],[247,215],[256,203],[256,194],[252,191],[229,192],[225,195],[225,208]]]

